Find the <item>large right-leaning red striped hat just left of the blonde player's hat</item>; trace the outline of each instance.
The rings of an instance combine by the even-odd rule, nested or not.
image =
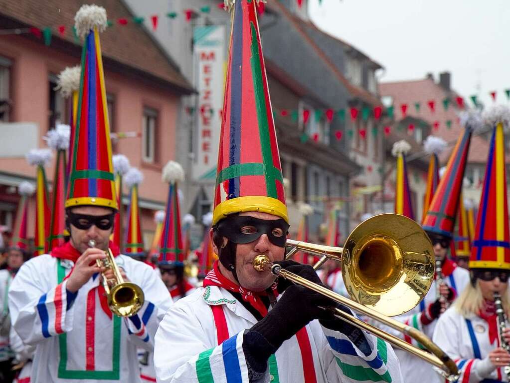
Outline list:
[[[422,224],[425,231],[446,239],[451,239],[453,236],[471,135],[474,130],[479,130],[482,126],[481,117],[477,111],[464,113],[461,120],[465,126],[464,133],[458,137],[446,165],[445,174],[439,181],[438,188]]]

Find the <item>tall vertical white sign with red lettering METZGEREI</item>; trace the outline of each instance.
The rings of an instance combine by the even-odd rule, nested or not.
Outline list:
[[[196,27],[193,30],[195,87],[198,103],[195,110],[195,160],[193,178],[213,181],[216,175],[221,112],[224,91],[225,28]],[[214,173],[214,174],[213,174]],[[209,175],[213,174],[212,179]]]

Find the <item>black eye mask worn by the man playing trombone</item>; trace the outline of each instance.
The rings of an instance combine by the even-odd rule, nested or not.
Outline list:
[[[269,241],[278,247],[285,247],[289,230],[289,224],[283,219],[267,221],[250,216],[237,216],[221,220],[217,227],[220,235],[235,244],[247,244],[257,240],[262,234],[267,234]],[[241,231],[243,228],[249,228],[252,232],[243,233]],[[275,235],[273,232],[275,229],[279,229],[282,235]]]

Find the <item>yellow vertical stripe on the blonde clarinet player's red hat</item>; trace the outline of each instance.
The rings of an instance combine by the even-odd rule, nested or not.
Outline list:
[[[498,241],[504,241],[505,239],[505,223],[504,220],[508,220],[508,217],[503,214],[504,210],[504,198],[506,195],[503,195],[504,192],[504,181],[506,181],[505,177],[505,164],[504,164],[504,149],[503,149],[503,125],[498,123],[496,126],[496,239]],[[506,222],[508,225],[508,222]],[[498,248],[497,259],[499,261],[504,260],[504,249]]]

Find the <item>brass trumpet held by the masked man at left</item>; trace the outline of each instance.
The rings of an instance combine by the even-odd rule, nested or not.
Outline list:
[[[95,247],[96,242],[90,240],[88,242],[90,247]],[[113,285],[108,285],[108,280],[103,274],[103,286],[108,298],[108,306],[112,313],[119,317],[131,317],[138,313],[144,302],[143,291],[137,284],[133,282],[126,282],[120,274],[119,267],[117,266],[112,250],[105,251],[105,259],[96,259],[96,264],[99,267],[105,267],[107,270],[111,269],[114,275]]]

